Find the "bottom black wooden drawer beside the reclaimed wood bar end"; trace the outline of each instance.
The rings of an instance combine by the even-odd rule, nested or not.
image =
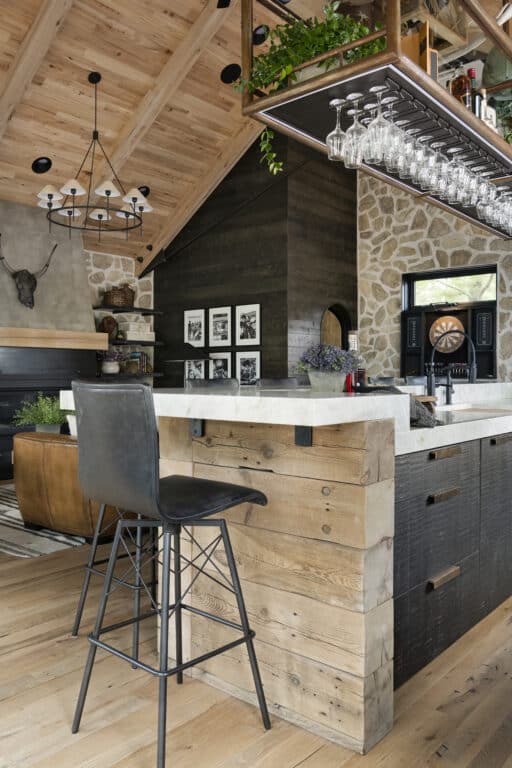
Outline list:
[[[438,577],[439,586],[435,589],[425,581],[395,600],[396,688],[467,632],[479,618],[478,552],[455,568],[432,573],[431,577],[433,580]]]

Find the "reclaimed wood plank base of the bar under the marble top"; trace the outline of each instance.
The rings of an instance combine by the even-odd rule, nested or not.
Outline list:
[[[268,496],[267,507],[224,514],[269,708],[366,752],[393,723],[393,421],[313,426],[309,447],[296,445],[286,424],[207,419],[193,437],[189,419],[160,417],[159,429],[162,475],[240,483]],[[193,535],[203,546],[212,537],[204,528]],[[215,575],[225,566],[222,550],[212,560]],[[233,595],[204,576],[188,599],[236,619]],[[227,627],[186,617],[186,653],[233,639]],[[244,654],[236,648],[193,674],[255,701]]]

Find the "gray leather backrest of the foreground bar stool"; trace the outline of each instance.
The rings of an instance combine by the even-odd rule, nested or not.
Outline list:
[[[87,498],[158,517],[158,431],[147,384],[73,381],[78,477]]]

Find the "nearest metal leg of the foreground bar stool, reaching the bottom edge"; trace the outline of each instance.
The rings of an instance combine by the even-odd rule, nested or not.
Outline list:
[[[157,768],[165,767],[167,729],[167,671],[169,667],[169,591],[171,580],[171,531],[164,525],[162,585],[160,601],[160,664],[158,680],[158,743]]]

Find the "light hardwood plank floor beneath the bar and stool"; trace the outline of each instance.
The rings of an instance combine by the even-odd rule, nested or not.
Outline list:
[[[98,654],[80,732],[70,723],[95,610],[69,635],[86,548],[33,560],[0,559],[0,768],[150,768],[156,681]],[[127,602],[128,601],[128,602]],[[127,615],[118,590],[113,618]],[[354,755],[196,679],[170,682],[172,768],[512,768],[512,598],[395,695],[395,727]],[[129,648],[126,630],[118,640]],[[154,626],[142,630],[154,657]]]

